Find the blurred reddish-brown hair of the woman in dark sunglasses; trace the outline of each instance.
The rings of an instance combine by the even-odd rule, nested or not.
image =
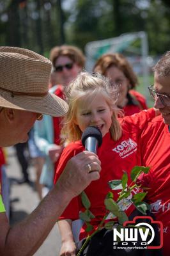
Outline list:
[[[59,56],[67,56],[76,63],[79,67],[83,68],[85,63],[85,56],[81,49],[72,45],[56,46],[50,50],[50,61],[54,67],[56,60]]]

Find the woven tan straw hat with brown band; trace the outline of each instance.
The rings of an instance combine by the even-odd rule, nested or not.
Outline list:
[[[68,110],[66,102],[48,92],[51,62],[36,52],[0,47],[0,106],[52,116]]]

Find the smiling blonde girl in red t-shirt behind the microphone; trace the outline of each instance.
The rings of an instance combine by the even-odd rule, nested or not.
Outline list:
[[[137,116],[126,116],[119,122],[116,116],[116,92],[112,90],[109,79],[100,74],[91,75],[86,72],[79,74],[70,83],[66,90],[66,99],[69,109],[63,120],[65,125],[63,125],[62,135],[69,144],[59,159],[54,183],[57,184],[68,159],[84,150],[80,141],[82,132],[91,125],[98,127],[103,137],[102,146],[98,148],[102,171],[100,180],[92,182],[85,189],[91,202],[90,210],[95,215],[91,224],[97,228],[105,215],[104,199],[110,191],[107,183],[113,179],[121,179],[123,170],[128,173],[128,182],[130,182],[130,171],[135,165],[141,165],[141,149],[137,146],[137,140],[146,123],[155,117],[155,111],[154,109],[142,111]],[[118,198],[118,192],[119,190],[114,194],[115,200]],[[136,192],[132,191],[129,198]],[[129,216],[134,211],[134,205],[129,201],[127,204],[123,205],[123,203],[125,202],[120,202],[120,207]],[[72,221],[79,219],[80,211],[84,211],[84,207],[80,196],[77,196],[60,216],[58,223],[63,241],[61,256],[75,255]],[[83,226],[80,239],[86,236]]]

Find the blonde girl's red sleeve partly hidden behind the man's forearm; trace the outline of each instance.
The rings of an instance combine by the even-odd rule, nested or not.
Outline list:
[[[76,143],[70,143],[68,147],[63,150],[61,157],[59,159],[58,168],[56,170],[56,175],[54,178],[54,184],[58,182],[58,179],[63,172],[66,163],[70,158],[77,155],[79,152],[82,152],[83,147],[82,145],[77,145]],[[65,211],[61,214],[59,219],[70,219],[70,220],[77,220],[79,219],[79,197],[76,196],[72,199],[70,204],[66,207]]]

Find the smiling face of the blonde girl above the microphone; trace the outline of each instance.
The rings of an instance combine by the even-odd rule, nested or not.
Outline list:
[[[112,110],[107,104],[104,95],[97,93],[95,97],[84,97],[77,102],[75,124],[79,125],[82,132],[88,126],[100,129],[104,137],[112,124]]]

